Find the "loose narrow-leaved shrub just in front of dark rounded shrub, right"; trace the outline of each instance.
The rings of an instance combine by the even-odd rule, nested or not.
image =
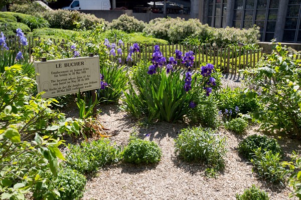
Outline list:
[[[257,148],[254,150],[251,162],[254,165],[252,171],[255,171],[260,178],[284,185],[285,176],[288,171],[284,168],[283,163],[281,163],[280,153]]]

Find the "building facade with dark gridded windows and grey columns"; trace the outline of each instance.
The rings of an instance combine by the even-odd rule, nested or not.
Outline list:
[[[201,22],[211,27],[248,29],[255,24],[260,41],[301,43],[301,0],[191,0],[195,6]]]

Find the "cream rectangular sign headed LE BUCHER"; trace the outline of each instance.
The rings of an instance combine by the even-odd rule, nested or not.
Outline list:
[[[99,56],[35,62],[43,98],[100,88]]]

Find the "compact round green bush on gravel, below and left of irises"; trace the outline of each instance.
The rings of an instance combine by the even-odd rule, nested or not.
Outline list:
[[[123,159],[125,162],[139,163],[156,163],[159,162],[162,151],[154,141],[146,141],[131,137],[128,145],[124,148]]]

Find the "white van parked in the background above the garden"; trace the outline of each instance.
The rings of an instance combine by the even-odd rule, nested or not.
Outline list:
[[[67,10],[110,10],[110,0],[74,0]]]

